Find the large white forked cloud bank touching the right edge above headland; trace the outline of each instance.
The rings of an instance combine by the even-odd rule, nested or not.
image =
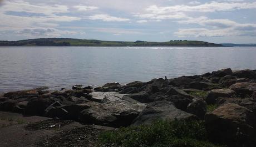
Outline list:
[[[178,21],[185,24],[199,24],[206,28],[179,29],[174,34],[179,37],[225,37],[225,36],[255,36],[256,24],[237,23],[229,19],[209,19],[207,17],[189,18],[185,21]]]

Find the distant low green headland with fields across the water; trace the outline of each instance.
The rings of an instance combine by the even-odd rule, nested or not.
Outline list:
[[[95,47],[221,47],[221,44],[214,44],[192,40],[171,40],[170,42],[115,42],[86,39],[69,38],[42,38],[18,41],[0,41],[0,46],[95,46]]]

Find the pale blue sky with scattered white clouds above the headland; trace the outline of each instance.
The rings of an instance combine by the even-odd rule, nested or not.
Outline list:
[[[255,0],[0,0],[0,40],[256,43]]]

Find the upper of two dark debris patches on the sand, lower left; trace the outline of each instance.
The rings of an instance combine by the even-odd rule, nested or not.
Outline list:
[[[29,123],[25,128],[27,130],[57,129],[71,123],[73,123],[72,120],[49,119],[38,121],[36,123]]]

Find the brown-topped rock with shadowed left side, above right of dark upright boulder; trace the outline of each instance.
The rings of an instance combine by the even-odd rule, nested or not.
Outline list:
[[[235,92],[230,89],[214,89],[214,90],[210,90],[210,92],[206,96],[205,101],[207,104],[215,104],[217,98],[220,98],[220,97],[230,98],[234,94]]]

